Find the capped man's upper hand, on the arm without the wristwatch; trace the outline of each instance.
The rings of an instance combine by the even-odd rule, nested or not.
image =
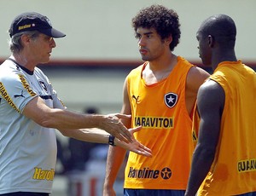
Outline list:
[[[133,141],[131,132],[125,127],[120,119],[131,118],[131,115],[113,113],[104,116],[101,129],[106,130],[109,134],[115,136],[120,141],[126,143]]]

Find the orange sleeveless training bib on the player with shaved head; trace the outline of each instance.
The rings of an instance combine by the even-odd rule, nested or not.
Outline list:
[[[236,195],[255,192],[255,72],[241,64],[241,61],[225,61],[218,65],[210,78],[224,89],[225,105],[217,153],[198,195]],[[194,131],[196,133],[198,130],[194,129]]]

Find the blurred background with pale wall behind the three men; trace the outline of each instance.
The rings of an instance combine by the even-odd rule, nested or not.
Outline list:
[[[131,18],[154,3],[179,14],[182,35],[176,55],[201,66],[195,38],[198,27],[212,14],[228,14],[236,21],[237,58],[256,68],[255,0],[1,0],[0,62],[10,55],[8,30],[15,16],[26,11],[44,14],[56,29],[67,34],[55,39],[57,47],[49,64],[39,65],[61,100],[73,111],[119,112],[125,76],[142,63]],[[81,144],[59,134],[58,139],[52,195],[102,195],[108,146]],[[80,151],[74,152],[74,148]],[[118,195],[122,193],[122,177],[120,172],[115,185]]]

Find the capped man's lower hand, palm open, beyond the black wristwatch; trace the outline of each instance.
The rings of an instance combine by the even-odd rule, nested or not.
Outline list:
[[[142,130],[143,127],[139,126],[137,128],[133,128],[133,129],[129,129],[130,133],[132,134],[133,137],[133,133]],[[131,141],[131,143],[126,143],[124,141],[117,141],[116,144],[119,147],[123,147],[126,150],[129,150],[133,153],[137,153],[146,157],[152,157],[152,151],[148,148],[145,147],[142,143],[140,143],[139,141],[137,141],[134,137],[133,137],[133,141]]]

